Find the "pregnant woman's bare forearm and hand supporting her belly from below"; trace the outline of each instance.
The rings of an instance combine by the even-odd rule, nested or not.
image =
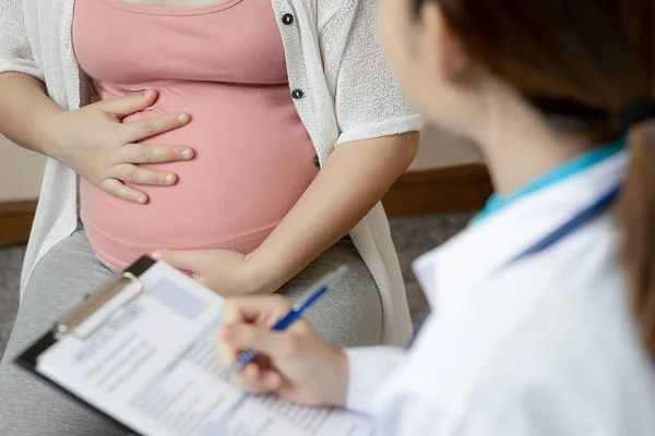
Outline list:
[[[250,254],[157,250],[153,257],[190,271],[223,296],[275,292],[382,198],[414,159],[418,136],[413,132],[337,146],[291,210]]]

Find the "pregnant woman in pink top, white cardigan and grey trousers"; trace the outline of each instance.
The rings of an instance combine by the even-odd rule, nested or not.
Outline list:
[[[50,157],[0,373],[0,434],[114,429],[11,359],[142,254],[223,295],[295,300],[338,346],[410,331],[379,201],[421,120],[371,0],[4,0],[0,132]],[[11,401],[4,401],[11,399]]]

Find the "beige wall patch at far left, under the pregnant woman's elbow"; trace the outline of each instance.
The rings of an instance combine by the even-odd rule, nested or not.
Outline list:
[[[0,203],[38,196],[45,158],[0,135]]]

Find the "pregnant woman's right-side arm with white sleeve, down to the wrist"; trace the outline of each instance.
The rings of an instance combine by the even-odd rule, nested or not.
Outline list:
[[[261,274],[260,292],[277,289],[353,229],[418,148],[422,120],[377,44],[377,1],[319,2],[318,8],[330,17],[320,43],[341,134],[305,195],[249,256]]]

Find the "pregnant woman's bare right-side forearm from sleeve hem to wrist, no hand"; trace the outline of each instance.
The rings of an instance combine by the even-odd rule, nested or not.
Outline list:
[[[417,132],[342,144],[276,229],[247,256],[258,293],[271,293],[342,239],[416,156]]]

